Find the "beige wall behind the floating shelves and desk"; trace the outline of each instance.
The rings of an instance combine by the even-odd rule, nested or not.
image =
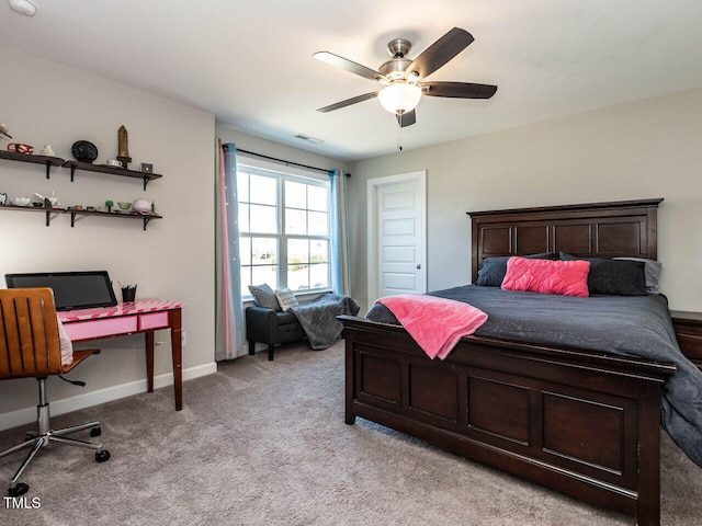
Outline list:
[[[137,283],[139,297],[184,301],[184,378],[214,371],[214,115],[1,46],[0,64],[0,119],[16,141],[37,152],[50,144],[58,157],[72,159],[72,142],[88,139],[104,162],[116,156],[117,128],[124,125],[132,168],[150,162],[163,175],[145,192],[136,179],[78,171],[71,183],[68,170],[54,169],[47,181],[38,164],[0,160],[0,192],[10,196],[54,191],[65,206],[146,197],[163,216],[143,231],[138,220],[101,217],[84,217],[71,228],[68,215],[47,228],[43,214],[0,210],[0,285],[5,273],[107,270],[115,282]],[[7,142],[0,140],[0,148]],[[163,384],[171,373],[169,334],[159,331],[157,341],[165,342],[156,353]],[[69,375],[86,380],[86,388],[49,379],[54,413],[145,390],[143,336],[100,346],[100,355]],[[34,418],[35,384],[0,382],[0,428]]]

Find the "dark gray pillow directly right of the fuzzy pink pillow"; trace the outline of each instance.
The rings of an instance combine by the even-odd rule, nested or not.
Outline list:
[[[589,261],[588,289],[590,294],[610,296],[646,296],[643,261],[609,260],[607,258],[578,258],[561,252],[563,261]]]

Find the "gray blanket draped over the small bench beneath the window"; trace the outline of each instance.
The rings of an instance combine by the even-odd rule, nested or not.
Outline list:
[[[306,304],[291,307],[302,325],[312,348],[321,351],[330,347],[339,340],[343,325],[337,316],[359,313],[359,304],[348,296],[340,294],[326,294]]]

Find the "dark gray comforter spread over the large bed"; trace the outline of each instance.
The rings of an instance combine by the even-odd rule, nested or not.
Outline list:
[[[475,334],[605,351],[672,362],[678,370],[664,384],[661,422],[676,444],[702,467],[702,373],[678,347],[665,296],[577,298],[466,285],[430,293],[465,301],[488,315]],[[398,323],[383,305],[366,316]]]

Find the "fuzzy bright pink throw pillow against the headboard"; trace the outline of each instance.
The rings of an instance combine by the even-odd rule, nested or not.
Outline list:
[[[502,281],[506,290],[588,297],[589,261],[552,261],[510,258]]]

